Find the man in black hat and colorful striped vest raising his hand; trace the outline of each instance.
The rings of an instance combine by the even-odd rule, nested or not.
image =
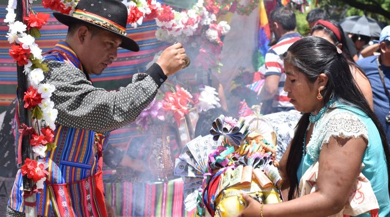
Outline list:
[[[99,194],[99,147],[104,147],[110,131],[134,121],[167,76],[187,66],[189,60],[182,45],[176,43],[164,50],[146,73],[135,74],[132,83],[118,91],[106,91],[94,87],[89,75],[100,75],[109,67],[117,59],[118,47],[139,50],[125,34],[126,6],[116,0],[81,0],[71,15],[54,16],[69,30],[66,39],[43,57],[49,71],[42,83],[56,88],[50,99],[58,117],[54,134],[57,147],[44,158],[49,175],[43,191],[36,194],[38,215],[106,216],[103,194]],[[24,216],[22,189],[18,171],[7,217]]]

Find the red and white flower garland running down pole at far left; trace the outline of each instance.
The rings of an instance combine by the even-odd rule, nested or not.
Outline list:
[[[42,1],[42,3],[50,2],[54,1]],[[50,5],[55,4],[51,3]],[[66,9],[62,5],[57,7],[61,7],[63,10]],[[31,11],[28,17],[23,19],[26,25],[23,22],[15,21],[15,9],[16,6],[10,1],[6,8],[8,12],[4,20],[9,26],[6,37],[10,44],[16,43],[11,45],[9,55],[19,66],[24,66],[24,73],[30,85],[27,91],[24,92],[23,100],[24,108],[31,112],[33,123],[30,144],[34,159],[25,159],[24,165],[21,167],[21,174],[33,179],[36,182],[37,189],[43,189],[43,181],[46,180],[47,175],[45,170],[47,163],[45,163],[44,158],[47,151],[55,148],[53,140],[58,111],[50,100],[56,89],[55,86],[41,82],[44,79],[43,73],[48,71],[48,68],[46,64],[42,63],[42,50],[35,43],[35,38],[40,37],[39,29],[47,23],[50,15]],[[30,34],[26,33],[27,30]],[[20,156],[18,157],[20,158]]]

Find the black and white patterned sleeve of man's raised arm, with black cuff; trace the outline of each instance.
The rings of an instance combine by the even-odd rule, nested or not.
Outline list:
[[[50,71],[43,82],[56,90],[51,97],[58,109],[57,124],[105,133],[133,122],[155,98],[167,79],[154,64],[146,73],[133,76],[133,82],[118,91],[97,88],[78,69],[49,61]]]

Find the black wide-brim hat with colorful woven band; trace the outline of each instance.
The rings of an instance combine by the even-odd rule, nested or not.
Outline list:
[[[122,39],[120,47],[139,51],[137,42],[126,36],[127,7],[120,1],[79,0],[71,15],[58,12],[54,12],[53,15],[67,26],[84,23],[112,32]]]

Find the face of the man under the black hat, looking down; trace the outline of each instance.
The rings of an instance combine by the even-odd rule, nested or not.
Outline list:
[[[122,39],[109,31],[89,32],[82,44],[82,57],[79,57],[88,74],[100,75],[117,59],[117,49]]]

